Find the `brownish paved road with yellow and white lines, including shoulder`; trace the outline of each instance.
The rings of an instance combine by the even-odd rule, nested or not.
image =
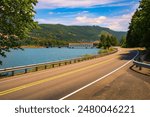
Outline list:
[[[0,99],[150,99],[150,77],[130,69],[136,55],[120,48],[105,57],[1,79]]]

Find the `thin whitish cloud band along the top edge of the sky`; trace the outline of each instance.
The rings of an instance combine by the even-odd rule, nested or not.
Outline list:
[[[94,5],[110,4],[122,0],[38,0],[38,9],[59,7],[91,7]]]

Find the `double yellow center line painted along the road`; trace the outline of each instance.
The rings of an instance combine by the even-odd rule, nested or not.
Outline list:
[[[68,75],[71,75],[71,74],[74,74],[74,73],[77,73],[77,72],[80,72],[80,71],[84,71],[84,70],[96,67],[98,65],[107,63],[107,62],[109,62],[109,61],[111,61],[111,60],[113,60],[115,58],[118,58],[118,57],[114,57],[112,59],[109,59],[109,60],[106,60],[106,61],[94,64],[94,65],[90,65],[90,66],[87,66],[87,67],[84,67],[84,68],[80,68],[80,69],[77,69],[77,70],[74,70],[74,71],[70,71],[70,72],[67,72],[67,73],[63,73],[63,74],[60,74],[60,75],[57,75],[57,76],[52,76],[52,77],[47,78],[47,79],[35,81],[35,82],[28,83],[28,84],[25,84],[25,85],[21,85],[21,86],[15,87],[15,88],[4,90],[4,91],[0,92],[0,96],[6,95],[6,94],[10,94],[10,93],[13,93],[13,92],[16,92],[16,91],[19,91],[19,90],[22,90],[22,89],[25,89],[25,88],[28,88],[28,87],[31,87],[31,86],[39,85],[39,84],[42,84],[42,83],[45,83],[45,82],[48,82],[48,81],[51,81],[51,80],[54,80],[54,79],[58,79],[58,78],[64,77],[64,76],[68,76]]]

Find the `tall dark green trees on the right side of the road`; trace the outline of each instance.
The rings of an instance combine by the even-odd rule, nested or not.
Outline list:
[[[150,0],[142,0],[132,17],[127,34],[128,47],[146,47],[150,49]]]

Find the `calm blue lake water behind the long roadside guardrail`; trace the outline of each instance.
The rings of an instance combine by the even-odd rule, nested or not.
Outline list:
[[[97,54],[98,49],[69,49],[69,48],[26,48],[22,50],[11,50],[6,53],[7,57],[0,56],[3,64],[0,69],[15,66],[37,64],[51,61],[59,61],[77,58],[85,54]]]

